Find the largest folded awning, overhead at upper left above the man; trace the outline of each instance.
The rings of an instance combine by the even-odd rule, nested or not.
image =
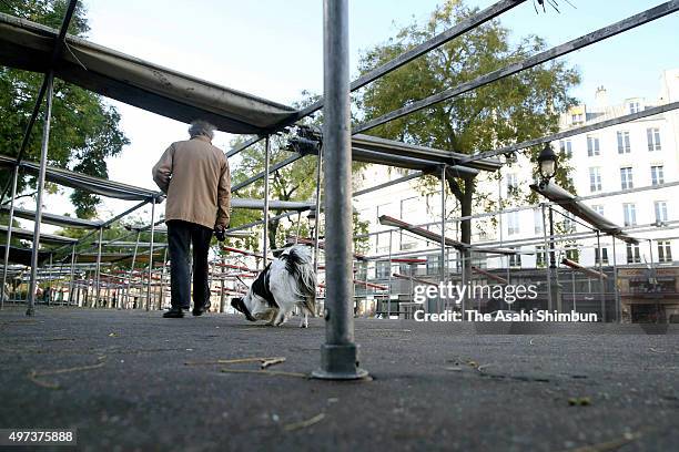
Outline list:
[[[0,14],[0,64],[47,72],[58,30]],[[107,97],[189,123],[210,121],[221,131],[261,134],[292,121],[297,111],[220,86],[68,35],[58,78]]]

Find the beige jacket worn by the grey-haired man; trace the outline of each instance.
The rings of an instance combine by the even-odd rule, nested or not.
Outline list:
[[[229,162],[206,136],[172,143],[153,166],[153,181],[168,195],[165,222],[183,219],[211,229],[229,225]]]

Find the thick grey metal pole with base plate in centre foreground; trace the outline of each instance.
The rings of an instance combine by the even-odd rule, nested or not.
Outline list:
[[[325,343],[321,369],[313,376],[348,380],[367,376],[357,367],[358,347],[354,343],[348,0],[324,0],[323,12]]]

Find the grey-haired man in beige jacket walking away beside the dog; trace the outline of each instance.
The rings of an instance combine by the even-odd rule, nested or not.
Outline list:
[[[153,181],[168,195],[165,223],[170,247],[172,308],[165,318],[184,317],[190,308],[189,247],[193,245],[193,315],[210,308],[207,255],[213,230],[229,225],[231,175],[224,153],[212,145],[215,126],[194,121],[191,140],[172,143],[153,167]]]

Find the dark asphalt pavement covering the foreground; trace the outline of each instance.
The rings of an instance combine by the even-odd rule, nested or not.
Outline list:
[[[83,451],[676,451],[677,327],[356,319],[372,379],[333,382],[307,378],[317,318],[10,305],[0,429],[77,429]]]

